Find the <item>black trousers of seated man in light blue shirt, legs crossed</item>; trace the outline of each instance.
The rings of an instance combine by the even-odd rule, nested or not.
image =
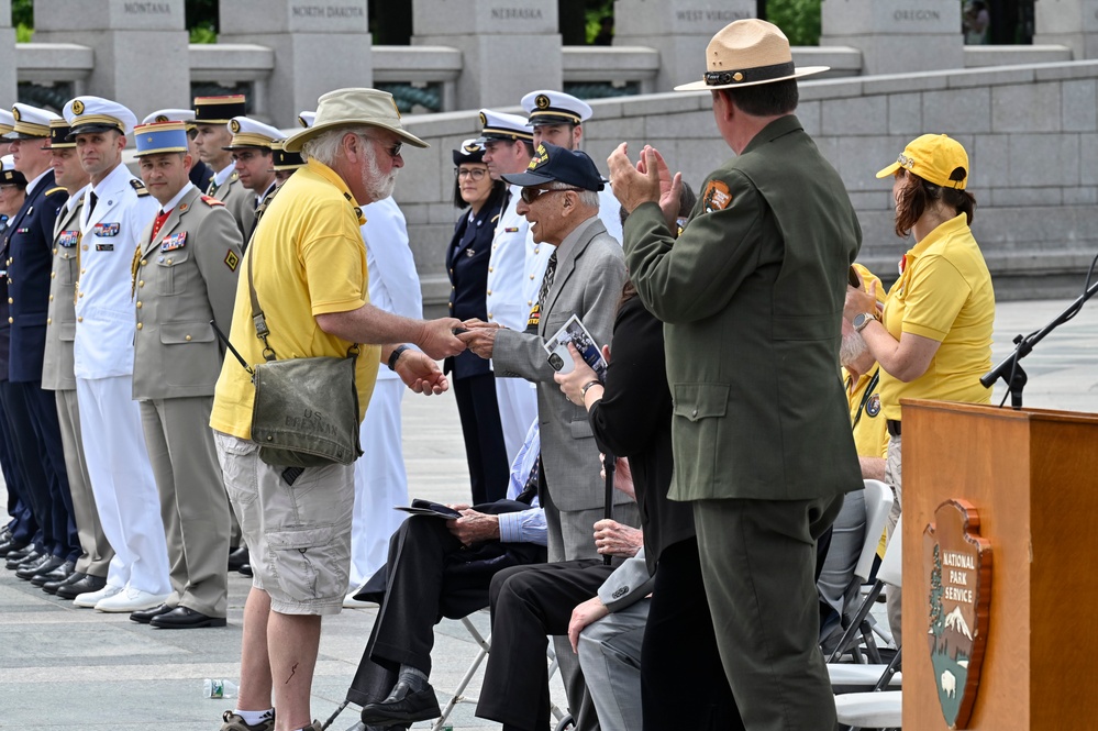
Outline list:
[[[480,512],[525,510],[500,500],[476,506]],[[347,690],[359,706],[384,700],[400,666],[430,675],[434,625],[443,617],[459,619],[488,606],[488,587],[500,571],[545,561],[545,547],[493,541],[465,550],[437,518],[412,516],[389,540],[385,566],[356,596],[381,605],[366,651]]]

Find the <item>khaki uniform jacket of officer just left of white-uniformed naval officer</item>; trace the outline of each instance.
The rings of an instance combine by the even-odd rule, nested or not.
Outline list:
[[[52,391],[76,390],[73,341],[76,340],[75,298],[82,208],[82,200],[71,211],[63,208],[54,223],[54,269],[46,310],[46,347],[42,357],[42,388]]]

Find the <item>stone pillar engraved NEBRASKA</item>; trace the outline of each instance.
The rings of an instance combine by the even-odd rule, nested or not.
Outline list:
[[[412,30],[412,45],[462,52],[457,109],[517,107],[564,85],[556,2],[413,0]]]

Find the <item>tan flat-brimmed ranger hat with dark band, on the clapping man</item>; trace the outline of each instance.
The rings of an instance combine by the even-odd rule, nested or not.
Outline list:
[[[830,66],[794,67],[789,38],[777,25],[748,18],[733,21],[706,47],[701,81],[675,87],[676,91],[731,89],[773,84],[825,71]]]

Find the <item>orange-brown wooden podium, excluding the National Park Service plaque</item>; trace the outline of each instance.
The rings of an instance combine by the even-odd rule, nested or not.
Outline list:
[[[945,730],[928,644],[923,531],[960,498],[990,542],[987,644],[957,728],[1098,719],[1098,414],[905,400],[903,728]]]

